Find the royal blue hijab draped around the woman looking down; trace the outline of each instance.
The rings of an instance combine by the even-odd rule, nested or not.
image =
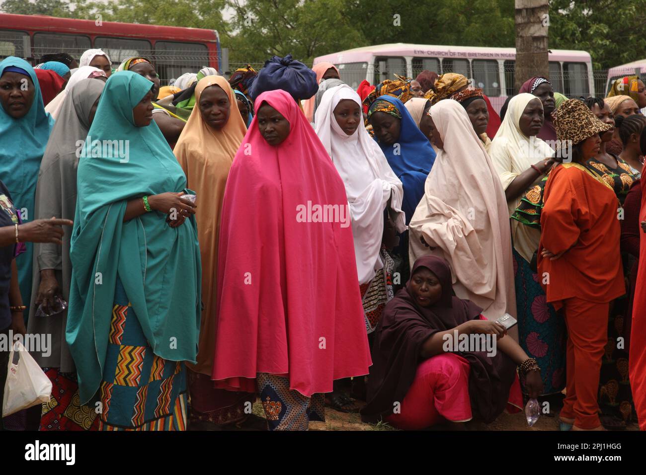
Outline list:
[[[379,143],[376,136],[375,140],[386,155],[391,169],[404,186],[402,211],[406,214],[406,224],[408,224],[415,213],[415,208],[424,196],[424,183],[435,163],[435,151],[428,142],[428,138],[417,127],[402,101],[386,95],[379,96],[378,99],[393,104],[402,116],[401,132],[397,142],[385,145]]]

